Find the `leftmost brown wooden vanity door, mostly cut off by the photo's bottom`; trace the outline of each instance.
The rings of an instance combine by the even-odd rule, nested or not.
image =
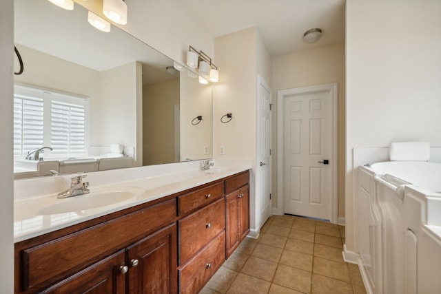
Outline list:
[[[125,253],[119,251],[40,293],[125,293]]]

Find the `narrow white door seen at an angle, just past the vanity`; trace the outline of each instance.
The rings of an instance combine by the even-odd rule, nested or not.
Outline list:
[[[257,193],[260,227],[271,216],[271,89],[258,76]]]

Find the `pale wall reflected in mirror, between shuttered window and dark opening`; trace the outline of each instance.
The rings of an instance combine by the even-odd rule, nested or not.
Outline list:
[[[142,87],[141,63],[134,62],[101,72],[99,102],[101,146],[121,144],[135,147],[135,166],[142,164],[142,142],[137,142],[142,120],[136,107]],[[141,153],[141,154],[140,154]]]

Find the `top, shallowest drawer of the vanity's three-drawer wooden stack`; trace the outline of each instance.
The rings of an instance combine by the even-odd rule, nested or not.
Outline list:
[[[185,213],[189,213],[198,207],[203,207],[204,205],[213,202],[214,200],[223,196],[225,191],[225,185],[223,182],[219,182],[215,185],[205,187],[203,189],[198,189],[191,193],[178,197],[178,211],[179,216]]]

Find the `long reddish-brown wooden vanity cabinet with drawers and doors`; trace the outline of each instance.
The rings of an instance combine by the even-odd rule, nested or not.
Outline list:
[[[249,171],[197,172],[189,189],[18,238],[15,293],[197,293],[249,232]]]

